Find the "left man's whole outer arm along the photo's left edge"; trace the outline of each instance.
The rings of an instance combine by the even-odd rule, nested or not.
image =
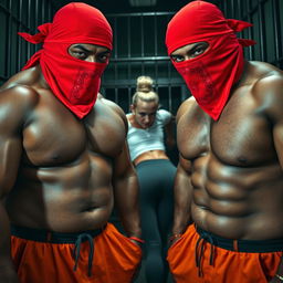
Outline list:
[[[4,208],[22,154],[21,128],[31,94],[24,87],[0,93],[0,282],[18,282],[10,255],[10,221]]]

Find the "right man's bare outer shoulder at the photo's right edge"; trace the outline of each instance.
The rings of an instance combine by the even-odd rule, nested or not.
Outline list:
[[[273,120],[283,120],[283,72],[268,63],[254,63],[258,78],[252,94],[259,107]]]

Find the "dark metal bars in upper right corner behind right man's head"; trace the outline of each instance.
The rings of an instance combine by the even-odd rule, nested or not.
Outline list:
[[[223,12],[228,18],[234,18],[253,23],[247,33],[249,38],[258,42],[258,46],[249,48],[248,60],[258,60],[272,63],[283,69],[282,61],[282,0],[230,0],[228,9],[226,1]],[[239,18],[240,15],[240,18]]]

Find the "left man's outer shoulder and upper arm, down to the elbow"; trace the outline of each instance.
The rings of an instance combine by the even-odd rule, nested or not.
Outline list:
[[[22,155],[22,128],[36,102],[36,93],[24,86],[0,93],[0,197],[14,185]]]

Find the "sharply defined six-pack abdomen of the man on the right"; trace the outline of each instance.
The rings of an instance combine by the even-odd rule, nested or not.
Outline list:
[[[283,178],[277,165],[196,167],[191,216],[201,229],[229,239],[282,239]]]

